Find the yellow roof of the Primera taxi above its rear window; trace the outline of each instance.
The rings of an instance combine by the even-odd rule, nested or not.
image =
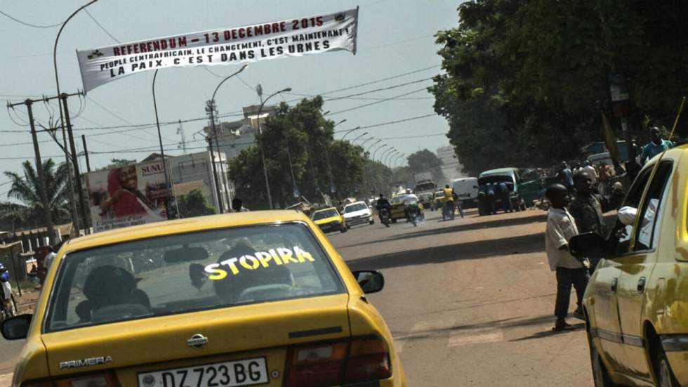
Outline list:
[[[147,223],[145,225],[135,225],[131,227],[118,228],[98,232],[93,235],[74,238],[68,240],[62,249],[74,251],[88,249],[105,244],[139,240],[147,237],[159,237],[164,235],[194,232],[199,230],[211,230],[213,228],[227,228],[242,225],[258,225],[265,223],[289,223],[293,221],[308,222],[309,219],[303,212],[295,210],[274,210],[274,211],[246,211],[232,214],[218,214],[209,216],[197,216],[195,218],[184,218],[173,221],[160,221]]]

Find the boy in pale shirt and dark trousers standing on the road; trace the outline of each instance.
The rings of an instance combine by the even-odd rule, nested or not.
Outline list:
[[[569,192],[562,184],[550,185],[545,191],[550,201],[545,231],[545,249],[550,270],[556,272],[557,301],[554,314],[557,317],[555,331],[574,329],[566,322],[571,299],[571,286],[576,288],[578,306],[574,317],[585,320],[583,316],[583,293],[588,285],[588,272],[578,259],[569,251],[569,240],[578,235],[576,221],[566,207],[570,202]]]

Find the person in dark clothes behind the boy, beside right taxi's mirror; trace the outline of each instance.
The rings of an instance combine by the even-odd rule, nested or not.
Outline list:
[[[611,197],[603,197],[595,194],[593,188],[593,178],[586,171],[574,174],[574,185],[576,195],[569,206],[569,214],[576,221],[576,228],[581,234],[583,232],[595,232],[602,237],[607,237],[607,224],[604,223],[604,214],[607,211],[616,209],[623,200],[623,192],[614,192]],[[590,274],[593,274],[599,259],[590,260]]]

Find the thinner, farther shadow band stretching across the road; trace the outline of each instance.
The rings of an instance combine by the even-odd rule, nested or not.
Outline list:
[[[362,243],[356,243],[356,244],[348,244],[345,246],[340,246],[339,248],[342,249],[342,248],[346,248],[346,247],[361,246],[364,244],[374,244],[374,243],[389,242],[389,241],[395,241],[395,240],[406,240],[409,238],[425,237],[428,235],[441,235],[441,234],[446,234],[446,233],[450,233],[450,232],[482,230],[484,228],[510,227],[510,226],[514,226],[514,225],[524,225],[524,224],[544,222],[544,221],[547,221],[547,213],[543,212],[543,211],[538,211],[536,214],[534,214],[532,216],[526,216],[526,217],[522,217],[522,218],[502,218],[502,219],[495,219],[492,221],[482,221],[482,222],[476,222],[476,223],[458,223],[456,225],[451,225],[451,226],[447,226],[447,227],[443,227],[443,228],[421,229],[421,230],[418,230],[415,232],[406,232],[402,235],[394,235],[394,236],[383,238],[380,240],[374,240],[374,241],[368,241],[368,242],[362,242]],[[446,223],[446,222],[461,222],[461,218],[456,218],[454,221],[441,221],[440,223]],[[392,227],[395,227],[395,226],[392,225]]]

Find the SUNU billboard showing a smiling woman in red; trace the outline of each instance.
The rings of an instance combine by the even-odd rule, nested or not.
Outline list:
[[[167,219],[162,160],[89,172],[84,180],[94,232]]]

